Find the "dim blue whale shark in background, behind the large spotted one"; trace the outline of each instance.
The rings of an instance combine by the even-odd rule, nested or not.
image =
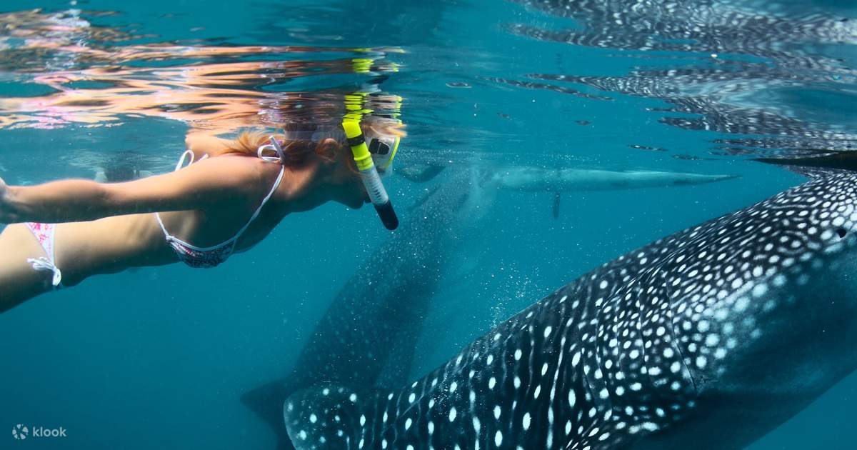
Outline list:
[[[427,189],[398,231],[357,268],[315,326],[291,373],[244,393],[242,402],[274,430],[279,449],[291,441],[283,404],[320,381],[362,386],[405,382],[413,351],[438,288],[467,226],[483,205],[470,174],[456,171]]]

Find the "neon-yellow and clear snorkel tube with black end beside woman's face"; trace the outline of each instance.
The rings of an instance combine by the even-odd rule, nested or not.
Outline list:
[[[369,199],[375,206],[378,217],[381,218],[381,222],[387,230],[395,230],[399,226],[399,218],[396,217],[396,212],[393,210],[393,203],[390,202],[387,189],[384,189],[384,184],[381,183],[381,176],[378,175],[375,162],[372,161],[369,147],[366,147],[366,138],[363,137],[360,123],[345,120],[342,123],[342,128],[345,129],[345,137],[348,138],[348,145],[354,155],[354,162],[357,163],[360,179],[363,180],[363,186],[369,193]]]

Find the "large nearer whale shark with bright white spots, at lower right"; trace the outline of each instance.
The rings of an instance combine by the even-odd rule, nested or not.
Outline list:
[[[286,429],[299,449],[744,447],[857,368],[855,186],[620,256],[404,388],[310,387]]]

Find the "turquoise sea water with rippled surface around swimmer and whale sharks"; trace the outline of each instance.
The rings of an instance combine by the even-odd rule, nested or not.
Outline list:
[[[466,245],[446,249],[453,262],[411,368],[421,376],[591,267],[804,179],[752,159],[857,141],[857,35],[831,25],[857,19],[850,2],[694,0],[639,15],[632,3],[8,2],[0,177],[169,171],[188,129],[330,119],[367,87],[403,99],[399,167],[740,175],[567,193],[559,219],[552,193],[497,193]],[[730,27],[739,13],[776,25]],[[369,72],[355,73],[355,58]],[[386,183],[408,219],[428,185]],[[368,209],[330,204],[214,269],[95,277],[10,310],[0,430],[68,436],[7,434],[0,448],[273,447],[242,394],[289,373],[339,288],[389,237]],[[854,376],[842,381],[753,448],[853,447],[855,388]]]

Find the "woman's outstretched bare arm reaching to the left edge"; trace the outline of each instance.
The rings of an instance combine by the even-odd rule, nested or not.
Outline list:
[[[76,222],[247,201],[261,183],[258,159],[223,157],[128,183],[63,180],[8,186],[0,179],[0,223]]]

